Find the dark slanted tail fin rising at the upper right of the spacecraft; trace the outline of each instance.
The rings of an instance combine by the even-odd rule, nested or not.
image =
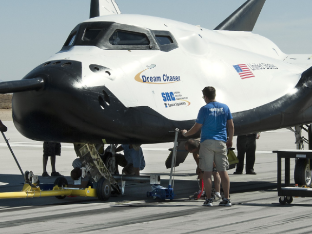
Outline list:
[[[214,30],[253,31],[265,0],[247,0]]]

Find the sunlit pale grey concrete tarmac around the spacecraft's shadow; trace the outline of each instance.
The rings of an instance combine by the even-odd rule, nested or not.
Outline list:
[[[22,170],[39,175],[40,183],[53,183],[55,178],[41,177],[42,142],[21,136],[12,121],[3,123],[8,127],[5,135]],[[88,197],[0,199],[0,233],[311,233],[312,198],[294,197],[286,205],[278,202],[277,157],[272,151],[295,149],[294,141],[293,133],[286,129],[261,134],[254,166],[257,175],[233,175],[234,169],[228,171],[232,207],[219,207],[218,203],[204,207],[203,200],[188,198],[198,190],[195,161],[189,155],[176,167],[176,197],[172,201],[146,197],[151,186],[136,182],[126,182],[125,194],[112,196],[106,202]],[[164,162],[168,148],[172,147],[173,143],[143,145],[147,165],[142,175],[159,174],[161,185],[167,187],[170,169],[166,169]],[[72,144],[62,144],[61,151],[56,169],[71,183],[70,172],[76,155]],[[0,192],[20,191],[24,180],[3,138],[0,157]],[[292,161],[292,171],[293,164]]]

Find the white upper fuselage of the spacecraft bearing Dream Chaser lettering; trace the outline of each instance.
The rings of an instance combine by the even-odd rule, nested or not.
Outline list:
[[[305,70],[284,62],[287,55],[272,41],[251,32],[212,31],[174,20],[127,14],[86,22],[91,21],[170,31],[178,48],[164,52],[73,46],[49,60],[80,61],[82,86],[106,86],[126,107],[149,106],[171,120],[196,119],[205,104],[201,92],[205,86],[214,86],[216,99],[235,113],[295,92],[293,88]],[[110,68],[113,76],[92,72],[90,64]],[[249,78],[239,71],[239,65],[246,66]]]

